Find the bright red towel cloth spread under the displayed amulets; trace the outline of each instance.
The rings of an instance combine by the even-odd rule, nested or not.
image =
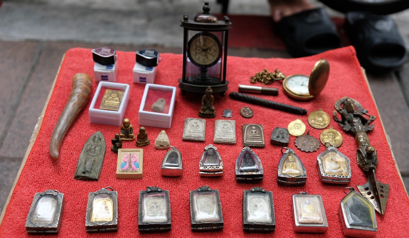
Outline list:
[[[118,82],[130,84],[130,100],[125,116],[130,118],[134,128],[138,127],[137,111],[142,98],[145,85],[133,83],[132,68],[135,63],[134,52],[117,51],[119,60]],[[177,86],[182,75],[182,56],[164,53],[158,65],[156,76],[157,84]],[[249,84],[249,76],[264,68],[273,70],[278,68],[289,75],[293,73],[310,73],[315,62],[326,58],[330,62],[330,78],[324,91],[314,100],[299,102],[286,96],[282,90],[281,82],[274,82],[271,87],[280,88],[279,96],[262,96],[270,100],[297,105],[312,112],[323,109],[332,114],[334,103],[343,96],[350,96],[358,100],[369,113],[378,117],[375,120],[375,129],[369,133],[371,143],[378,149],[379,165],[377,176],[381,182],[391,186],[386,214],[376,214],[378,221],[378,237],[398,237],[409,231],[409,200],[404,187],[395,169],[389,151],[387,140],[382,130],[378,112],[370,96],[369,89],[363,78],[360,65],[355,57],[352,47],[328,51],[317,56],[297,59],[259,59],[229,57],[227,61],[227,80],[229,90],[237,91],[238,84]],[[74,48],[67,51],[61,66],[58,80],[49,101],[44,121],[38,133],[37,140],[22,170],[13,196],[0,227],[2,237],[29,237],[25,231],[25,220],[35,192],[47,189],[58,189],[65,194],[65,208],[62,215],[60,237],[342,237],[339,218],[339,202],[344,198],[344,187],[362,185],[366,176],[357,166],[355,150],[357,148],[353,136],[344,133],[342,128],[331,119],[330,126],[342,133],[344,143],[339,150],[351,159],[352,179],[349,185],[329,185],[319,181],[317,174],[317,155],[324,151],[321,145],[318,151],[306,153],[295,149],[294,137],[290,136],[289,147],[295,149],[297,155],[306,166],[308,179],[305,186],[283,187],[277,185],[277,165],[281,157],[281,147],[270,145],[270,135],[274,127],[287,127],[292,120],[300,118],[306,124],[310,135],[319,138],[322,130],[313,129],[307,123],[307,117],[285,113],[264,107],[249,105],[244,102],[231,100],[228,96],[221,98],[215,95],[216,118],[206,119],[206,141],[182,141],[184,119],[197,118],[200,109],[201,95],[181,96],[177,91],[175,111],[172,127],[166,129],[171,145],[178,147],[183,157],[183,176],[178,178],[162,177],[160,165],[166,150],[154,148],[154,141],[161,128],[146,127],[151,140],[151,145],[144,149],[144,177],[142,179],[117,179],[115,170],[117,154],[110,151],[110,139],[119,132],[119,127],[91,124],[87,109],[82,111],[63,140],[60,159],[54,161],[48,152],[49,140],[54,125],[63,110],[70,95],[71,79],[75,73],[83,72],[93,76],[92,57],[90,49]],[[97,88],[97,83],[92,85],[92,95]],[[90,100],[91,101],[91,100]],[[249,106],[254,111],[252,118],[243,118],[239,109]],[[222,118],[222,110],[229,107],[233,111],[233,120],[236,120],[236,145],[216,145],[223,159],[224,175],[218,178],[199,176],[199,160],[203,149],[213,143],[214,121]],[[242,146],[241,125],[246,123],[263,124],[266,146],[263,149],[255,148],[254,151],[261,158],[264,167],[264,180],[257,184],[243,184],[236,182],[234,166]],[[78,157],[82,147],[89,136],[95,131],[101,131],[108,144],[99,181],[79,181],[73,178]],[[135,130],[137,131],[137,129]],[[135,141],[124,141],[123,148],[134,148]],[[222,231],[195,233],[190,229],[189,191],[202,185],[209,185],[220,191],[223,218],[225,227]],[[88,193],[97,191],[102,187],[111,186],[118,191],[119,229],[111,234],[87,234],[85,231],[85,210]],[[147,186],[159,186],[169,190],[171,200],[172,229],[165,233],[141,234],[137,231],[137,207],[139,190]],[[276,230],[270,234],[247,234],[242,229],[242,196],[243,190],[254,186],[263,187],[273,191]],[[326,210],[329,229],[325,234],[297,234],[293,230],[292,194],[307,191],[309,194],[321,194]],[[32,236],[31,236],[32,237]],[[38,236],[36,236],[38,237]]]

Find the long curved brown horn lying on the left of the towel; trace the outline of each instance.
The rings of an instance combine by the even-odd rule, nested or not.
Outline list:
[[[81,110],[87,104],[91,94],[92,78],[86,73],[77,73],[72,77],[72,89],[70,98],[54,127],[50,140],[50,155],[58,159],[61,142],[77,118]]]

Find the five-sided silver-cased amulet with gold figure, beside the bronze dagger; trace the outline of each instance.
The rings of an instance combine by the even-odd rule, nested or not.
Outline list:
[[[326,143],[328,145],[328,143]],[[329,145],[317,156],[319,180],[328,183],[346,184],[351,181],[351,160],[337,148]]]

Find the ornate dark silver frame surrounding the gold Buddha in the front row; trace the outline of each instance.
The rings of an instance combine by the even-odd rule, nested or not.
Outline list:
[[[94,232],[111,232],[118,230],[118,192],[108,190],[107,188],[112,189],[111,187],[101,188],[96,192],[88,194],[88,204],[87,204],[87,214],[85,216],[85,227],[87,228],[88,233]],[[113,218],[111,221],[105,222],[91,222],[91,208],[94,197],[98,194],[108,194],[112,198],[112,213]]]

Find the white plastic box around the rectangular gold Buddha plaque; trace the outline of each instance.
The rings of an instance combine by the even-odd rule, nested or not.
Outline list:
[[[97,101],[101,101],[102,96],[105,91],[103,89],[114,89],[124,91],[124,96],[121,100],[118,111],[109,111],[99,109]],[[103,91],[103,92],[102,92]],[[91,123],[105,124],[120,126],[122,125],[122,119],[124,118],[126,107],[129,101],[129,85],[116,82],[99,82],[97,91],[95,91],[94,97],[92,98],[90,108],[88,109],[88,114],[90,116]]]

